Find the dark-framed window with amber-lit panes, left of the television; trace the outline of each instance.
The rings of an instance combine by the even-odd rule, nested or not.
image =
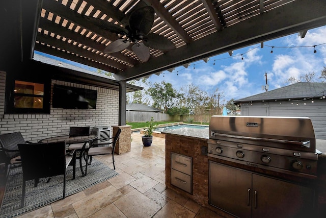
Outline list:
[[[6,89],[6,114],[50,113],[50,82],[11,81]]]

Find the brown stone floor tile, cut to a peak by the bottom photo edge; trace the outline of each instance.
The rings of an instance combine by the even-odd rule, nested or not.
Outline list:
[[[188,210],[185,207],[182,207],[180,204],[175,201],[169,201],[162,209],[160,209],[153,218],[190,218],[195,217],[196,213]]]

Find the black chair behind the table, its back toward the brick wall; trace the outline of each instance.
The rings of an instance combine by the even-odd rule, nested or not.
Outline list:
[[[69,137],[78,137],[78,136],[88,136],[90,135],[90,127],[70,127],[69,128]],[[89,142],[85,143],[72,143],[69,144],[69,149],[70,150],[75,150],[76,151],[76,159],[79,159],[79,165],[80,165],[80,171],[82,172],[83,176],[86,176],[86,171],[87,171],[87,164],[86,164],[86,169],[84,172],[83,169],[83,158],[85,158],[86,161],[86,155],[85,152],[87,152],[87,149],[89,148],[90,144]]]

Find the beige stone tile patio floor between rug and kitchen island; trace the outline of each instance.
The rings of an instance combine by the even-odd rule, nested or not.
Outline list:
[[[221,217],[165,186],[165,139],[115,155],[118,176],[19,217]],[[94,157],[93,157],[94,158]],[[95,157],[113,168],[112,156]]]

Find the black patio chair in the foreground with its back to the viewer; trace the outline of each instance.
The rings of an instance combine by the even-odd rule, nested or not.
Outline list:
[[[51,143],[18,144],[22,165],[21,207],[24,206],[26,181],[34,180],[37,187],[39,179],[49,179],[63,175],[63,199],[66,197],[66,168],[71,157],[66,157],[64,141]]]

